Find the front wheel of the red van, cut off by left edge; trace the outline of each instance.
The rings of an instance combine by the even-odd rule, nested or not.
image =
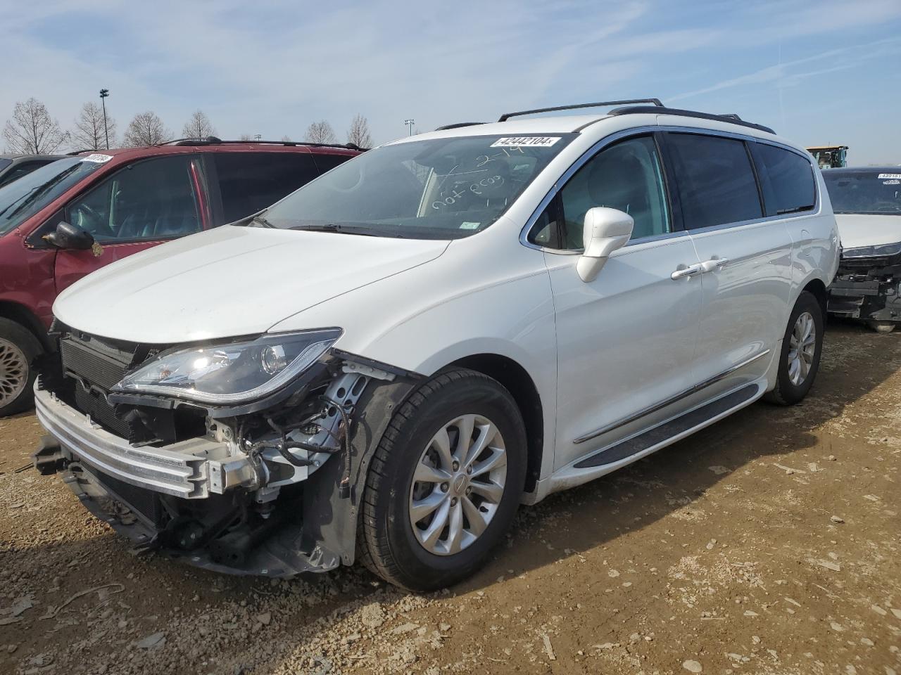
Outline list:
[[[0,418],[31,408],[34,402],[32,361],[43,351],[31,330],[0,319]]]

